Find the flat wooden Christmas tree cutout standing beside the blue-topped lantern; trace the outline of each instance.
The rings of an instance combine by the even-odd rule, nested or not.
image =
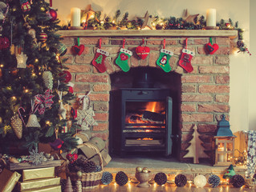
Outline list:
[[[183,158],[193,158],[193,163],[199,163],[199,158],[208,158],[207,154],[204,152],[204,147],[201,145],[201,140],[197,132],[197,126],[194,125],[193,138],[190,141],[190,146],[187,150],[189,152],[185,154]]]

